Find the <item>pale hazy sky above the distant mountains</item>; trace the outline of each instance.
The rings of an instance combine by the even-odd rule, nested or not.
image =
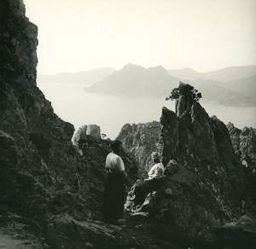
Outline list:
[[[24,0],[38,73],[256,65],[255,0]]]

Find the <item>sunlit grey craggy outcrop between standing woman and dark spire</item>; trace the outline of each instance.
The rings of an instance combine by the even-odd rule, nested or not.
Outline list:
[[[147,171],[152,166],[150,155],[157,151],[160,138],[160,122],[145,124],[126,124],[119,132],[119,139],[123,143],[125,151],[137,160],[139,176],[147,177]]]

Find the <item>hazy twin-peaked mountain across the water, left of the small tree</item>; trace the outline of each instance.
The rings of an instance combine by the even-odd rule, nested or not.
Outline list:
[[[85,90],[126,96],[167,96],[178,82],[164,67],[128,64]]]

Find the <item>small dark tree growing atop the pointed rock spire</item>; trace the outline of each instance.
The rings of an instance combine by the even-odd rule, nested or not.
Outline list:
[[[196,90],[194,86],[179,82],[179,86],[171,91],[171,95],[166,97],[166,101],[177,100],[179,96],[185,96],[187,101],[194,103],[201,99],[201,92]]]

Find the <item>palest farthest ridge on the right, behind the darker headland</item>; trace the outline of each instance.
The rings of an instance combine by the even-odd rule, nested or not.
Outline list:
[[[198,78],[217,80],[217,81],[231,81],[240,78],[247,78],[256,75],[256,66],[244,67],[225,67],[212,72],[195,72],[191,68],[183,68],[177,70],[168,70],[168,72],[177,78],[195,80]]]

